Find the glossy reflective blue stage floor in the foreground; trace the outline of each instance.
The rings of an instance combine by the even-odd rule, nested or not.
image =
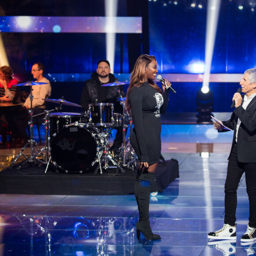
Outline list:
[[[178,160],[180,178],[161,194],[151,196],[151,227],[162,240],[147,241],[143,235],[137,240],[135,224],[139,213],[134,195],[2,194],[0,256],[256,255],[256,243],[241,245],[240,242],[248,224],[244,176],[237,194],[237,241],[216,242],[207,238],[208,232],[223,225],[230,143],[220,147],[218,143],[204,144],[200,138],[201,145],[196,141],[177,141],[178,152],[169,151],[173,143],[163,142],[166,149],[163,156],[166,160]],[[213,153],[202,158],[200,148],[203,152],[208,148]],[[213,150],[216,148],[220,152]]]

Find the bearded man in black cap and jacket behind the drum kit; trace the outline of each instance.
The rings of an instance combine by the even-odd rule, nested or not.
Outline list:
[[[125,97],[123,86],[118,86],[120,94],[117,92],[117,86],[102,87],[103,84],[115,82],[115,76],[110,72],[109,61],[99,60],[96,72],[91,74],[91,79],[85,81],[83,87],[80,105],[84,111],[88,111],[90,103],[114,103],[114,113],[122,113],[122,106],[120,102],[117,102],[117,98],[120,97],[120,94]],[[122,127],[117,128],[116,138],[111,147],[113,154],[116,154],[122,145],[122,134]]]

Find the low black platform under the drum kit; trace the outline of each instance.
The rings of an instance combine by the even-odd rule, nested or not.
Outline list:
[[[4,169],[0,172],[1,194],[27,195],[129,195],[134,194],[136,170],[126,169],[116,173],[107,169],[102,175],[94,173],[58,173],[44,167],[30,166],[28,163],[17,170]],[[179,177],[178,162],[175,159],[160,162],[156,171],[153,190],[162,192]]]

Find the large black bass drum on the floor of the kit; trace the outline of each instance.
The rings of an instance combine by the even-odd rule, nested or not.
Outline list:
[[[53,164],[66,173],[91,172],[97,162],[97,130],[69,125],[53,135],[51,156]]]

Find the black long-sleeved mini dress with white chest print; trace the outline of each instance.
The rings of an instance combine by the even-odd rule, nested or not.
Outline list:
[[[130,143],[139,162],[148,162],[149,165],[157,163],[161,154],[160,114],[166,112],[169,90],[161,94],[146,82],[141,87],[133,87],[128,99],[134,124]]]

